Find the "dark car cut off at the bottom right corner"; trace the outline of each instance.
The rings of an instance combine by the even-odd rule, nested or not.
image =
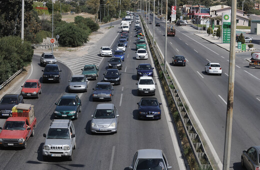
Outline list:
[[[247,150],[243,150],[241,155],[241,166],[246,169],[259,169],[260,146],[251,146]]]

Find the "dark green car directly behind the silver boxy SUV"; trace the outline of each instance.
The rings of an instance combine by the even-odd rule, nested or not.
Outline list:
[[[81,100],[77,94],[64,94],[60,97],[54,110],[54,118],[77,119],[78,112],[81,112]]]

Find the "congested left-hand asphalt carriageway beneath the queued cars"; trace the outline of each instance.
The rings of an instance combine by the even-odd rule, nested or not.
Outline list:
[[[134,23],[134,22],[133,22]],[[119,24],[117,25],[119,26]],[[62,94],[67,91],[68,79],[71,71],[63,63],[58,63],[61,72],[60,83],[43,83],[42,94],[38,99],[24,99],[24,103],[34,105],[37,118],[35,135],[30,137],[26,149],[13,147],[3,148],[0,151],[0,169],[127,169],[131,165],[132,158],[137,149],[158,148],[162,149],[172,169],[179,169],[176,158],[176,150],[171,138],[172,129],[169,129],[165,118],[166,104],[161,90],[156,86],[156,95],[162,101],[162,117],[160,120],[138,120],[137,104],[141,96],[137,96],[136,69],[139,63],[152,63],[148,60],[135,59],[135,39],[131,25],[128,46],[125,51],[123,67],[120,70],[121,84],[114,86],[112,103],[119,112],[119,126],[116,134],[91,134],[90,120],[96,105],[101,102],[93,102],[91,99],[92,88],[96,82],[101,81],[102,73],[108,66],[108,59],[104,57],[99,65],[98,80],[88,82],[87,92],[78,93],[82,102],[82,111],[77,120],[73,120],[76,131],[77,148],[73,150],[73,160],[66,161],[62,158],[52,158],[44,162],[41,156],[41,148],[44,143],[43,133],[47,132],[48,126],[53,118],[52,112],[56,102]],[[107,36],[110,36],[109,34]],[[114,37],[111,37],[114,38]],[[118,37],[115,37],[118,38]],[[115,49],[116,41],[112,44]],[[96,54],[97,55],[97,54]],[[32,73],[27,78],[40,78],[42,75],[39,66],[39,57],[32,58]],[[154,77],[157,79],[157,76]],[[24,80],[21,82],[23,83]],[[40,78],[41,81],[41,78]],[[18,84],[11,92],[19,93],[21,84]],[[160,92],[160,93],[159,93]],[[108,102],[110,103],[110,102]],[[5,119],[0,119],[3,126]]]

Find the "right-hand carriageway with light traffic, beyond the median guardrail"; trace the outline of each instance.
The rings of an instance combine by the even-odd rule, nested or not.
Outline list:
[[[153,22],[152,16],[150,20]],[[160,26],[155,27],[154,39],[164,54],[165,20],[155,17],[156,22]],[[149,24],[151,34],[152,24]],[[229,52],[194,35],[189,25],[175,28],[176,35],[167,37],[166,61],[223,162]],[[243,169],[242,150],[259,145],[260,127],[255,123],[260,120],[260,74],[258,69],[248,68],[245,58],[250,53],[236,53],[230,169]],[[171,64],[171,57],[176,54],[186,58],[185,67]],[[204,65],[209,61],[220,63],[221,76],[206,75]]]

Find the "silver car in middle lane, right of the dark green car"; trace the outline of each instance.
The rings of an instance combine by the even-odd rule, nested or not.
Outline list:
[[[97,104],[92,116],[90,130],[96,133],[116,133],[118,124],[117,109],[112,103]]]

